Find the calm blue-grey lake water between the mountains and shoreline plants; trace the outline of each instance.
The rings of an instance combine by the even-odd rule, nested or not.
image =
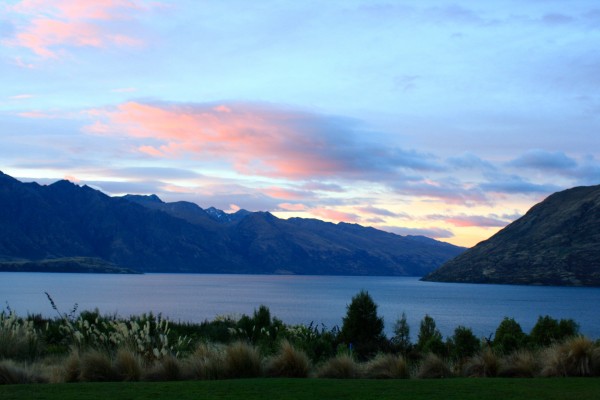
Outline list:
[[[458,325],[488,336],[505,316],[529,332],[538,316],[550,315],[572,318],[583,334],[600,338],[600,288],[448,284],[412,277],[0,273],[0,302],[23,316],[55,316],[48,292],[65,313],[77,303],[79,311],[98,308],[123,317],[152,311],[173,321],[201,322],[252,314],[264,304],[287,324],[332,328],[341,326],[346,305],[362,289],[379,306],[388,335],[405,312],[413,336],[426,314],[444,336]]]

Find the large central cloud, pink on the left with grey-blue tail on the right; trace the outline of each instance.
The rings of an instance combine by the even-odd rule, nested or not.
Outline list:
[[[442,168],[432,155],[360,140],[368,135],[357,121],[268,104],[127,102],[88,115],[88,133],[127,135],[153,157],[227,162],[244,175],[381,181]]]

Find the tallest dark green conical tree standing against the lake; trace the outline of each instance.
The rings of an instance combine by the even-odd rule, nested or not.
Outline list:
[[[377,315],[377,304],[368,292],[361,290],[346,308],[340,338],[359,358],[375,354],[385,342],[383,318]]]

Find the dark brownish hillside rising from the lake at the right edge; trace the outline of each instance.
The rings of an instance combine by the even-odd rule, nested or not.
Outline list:
[[[552,194],[423,280],[600,286],[600,185]]]

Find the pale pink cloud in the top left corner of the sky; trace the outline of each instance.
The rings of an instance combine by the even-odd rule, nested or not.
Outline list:
[[[139,0],[22,0],[8,11],[16,24],[5,42],[42,58],[57,58],[66,47],[138,46],[127,24],[151,5]],[[23,22],[24,21],[24,22]]]

